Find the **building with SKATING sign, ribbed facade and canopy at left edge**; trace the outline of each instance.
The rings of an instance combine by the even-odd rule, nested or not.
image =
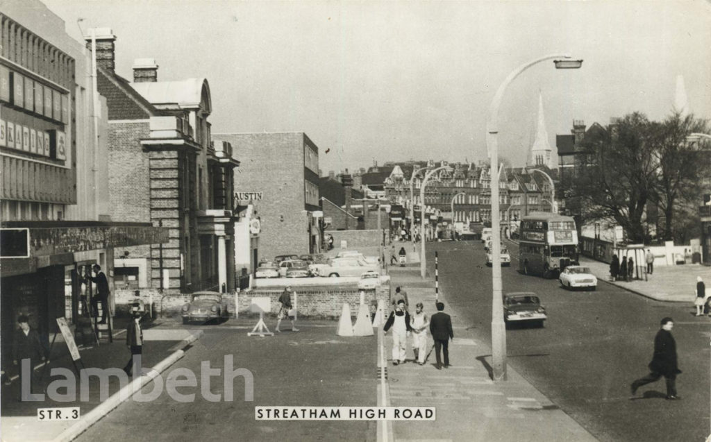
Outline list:
[[[110,280],[114,247],[161,242],[167,232],[109,214],[106,101],[92,90],[91,58],[64,21],[40,1],[8,0],[0,29],[6,357],[19,314],[46,339],[57,318],[83,313],[90,286],[78,277],[82,268],[100,264]]]

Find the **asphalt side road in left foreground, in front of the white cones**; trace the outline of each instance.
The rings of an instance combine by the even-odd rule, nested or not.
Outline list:
[[[242,321],[244,322],[244,321]],[[256,322],[256,319],[255,319]],[[272,328],[274,320],[267,320]],[[230,320],[220,325],[193,326],[205,335],[185,356],[163,373],[176,368],[196,374],[196,387],[179,387],[195,394],[191,401],[176,401],[163,390],[157,399],[132,399],[105,416],[77,441],[368,441],[375,423],[368,421],[257,421],[255,406],[375,406],[375,337],[336,336],[336,322],[299,323],[299,333],[282,324],[274,337],[248,337],[252,327]],[[176,327],[183,327],[177,324]],[[233,399],[225,401],[222,374],[209,383],[218,401],[201,394],[201,364],[223,369],[224,355],[233,356],[232,370],[246,368],[254,377],[254,400],[246,401],[245,382],[236,377]],[[215,373],[216,374],[216,373]],[[183,378],[185,379],[185,378]],[[144,387],[147,394],[154,388]]]

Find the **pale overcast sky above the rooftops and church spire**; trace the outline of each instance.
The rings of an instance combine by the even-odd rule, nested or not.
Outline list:
[[[510,85],[499,146],[515,166],[533,143],[539,90],[554,152],[573,119],[607,124],[634,111],[663,119],[677,75],[691,112],[711,118],[706,0],[45,3],[77,39],[80,26],[112,28],[117,72],[129,80],[135,58],[155,58],[159,80],[206,77],[213,133],[306,132],[324,173],[483,160],[494,92],[549,53],[583,58],[583,68],[541,63]]]

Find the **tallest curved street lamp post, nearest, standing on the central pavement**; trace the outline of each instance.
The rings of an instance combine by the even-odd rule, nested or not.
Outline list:
[[[493,179],[493,171],[498,170],[498,108],[501,106],[501,99],[506,87],[512,82],[515,77],[530,68],[536,63],[555,58],[565,58],[567,60],[555,60],[556,69],[575,69],[580,68],[582,60],[570,60],[570,55],[567,54],[552,54],[524,63],[520,67],[511,72],[506,80],[503,80],[501,86],[496,90],[489,107],[486,150],[490,156],[491,165],[491,278],[493,291],[491,293],[491,367],[493,369],[493,380],[506,380],[506,324],[503,322],[503,291],[501,282],[501,222],[499,220],[499,202],[498,202],[498,176],[496,182]],[[423,249],[424,252],[424,249]]]

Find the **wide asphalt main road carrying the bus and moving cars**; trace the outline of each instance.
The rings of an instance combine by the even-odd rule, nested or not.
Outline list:
[[[519,274],[518,247],[506,245],[512,264],[502,268],[503,293],[533,291],[548,314],[544,328],[507,331],[510,366],[600,441],[705,440],[711,433],[711,318],[693,316],[691,304],[653,301],[603,281],[597,291],[568,291],[557,279]],[[491,342],[491,268],[483,244],[430,243],[432,265],[435,250],[449,308]],[[682,400],[665,400],[663,379],[632,399],[629,384],[648,373],[664,316],[675,322]]]

